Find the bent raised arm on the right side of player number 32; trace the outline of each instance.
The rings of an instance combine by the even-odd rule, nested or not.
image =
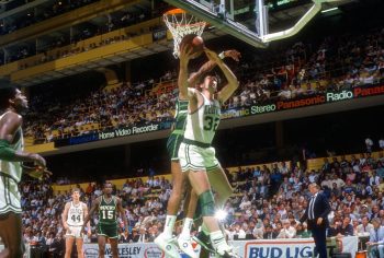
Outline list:
[[[225,78],[227,79],[227,84],[217,93],[217,98],[222,103],[225,103],[239,86],[239,82],[237,81],[236,75],[230,71],[230,69],[223,62],[223,60],[218,57],[218,55],[207,48],[205,48],[205,54],[210,60],[217,63],[217,66],[222,69]]]

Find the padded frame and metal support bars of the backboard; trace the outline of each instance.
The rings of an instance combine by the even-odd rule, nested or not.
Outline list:
[[[268,7],[264,0],[255,1],[255,31],[246,25],[236,22],[234,1],[236,0],[165,0],[166,2],[185,10],[196,17],[215,26],[224,33],[230,34],[242,42],[258,48],[266,48],[270,42],[280,40],[297,34],[315,15],[321,11],[323,3],[340,2],[342,0],[312,0],[313,5],[306,13],[290,28],[269,33]]]

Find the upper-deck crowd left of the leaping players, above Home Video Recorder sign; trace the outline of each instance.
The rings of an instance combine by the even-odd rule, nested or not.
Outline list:
[[[173,93],[165,92],[160,96],[144,94],[153,83],[151,80],[134,85],[124,83],[110,91],[94,91],[69,103],[63,103],[63,98],[55,103],[56,98],[47,102],[47,98],[32,97],[25,134],[42,143],[121,127],[172,121]],[[91,126],[81,130],[86,125]]]

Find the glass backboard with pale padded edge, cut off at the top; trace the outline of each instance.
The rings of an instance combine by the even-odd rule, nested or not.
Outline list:
[[[251,46],[264,48],[268,43],[298,33],[321,9],[350,0],[165,0],[185,10],[211,26]],[[279,5],[280,4],[280,5]],[[284,4],[306,4],[297,22],[283,31],[269,33],[269,10]]]

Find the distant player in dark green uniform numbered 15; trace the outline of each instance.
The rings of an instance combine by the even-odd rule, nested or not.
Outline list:
[[[105,183],[103,187],[103,195],[98,197],[92,203],[89,214],[86,216],[83,226],[90,220],[94,211],[99,212],[98,224],[98,244],[99,257],[104,257],[106,238],[110,239],[113,258],[117,258],[117,237],[118,237],[118,222],[117,213],[124,221],[125,231],[128,231],[125,210],[122,207],[122,200],[112,195],[112,184]]]

